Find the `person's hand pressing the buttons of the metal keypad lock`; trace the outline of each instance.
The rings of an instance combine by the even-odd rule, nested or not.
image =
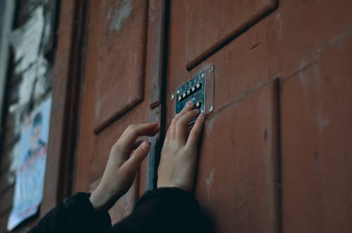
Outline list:
[[[158,168],[158,187],[179,187],[191,192],[198,154],[198,144],[204,123],[204,114],[188,102],[172,119],[166,133]],[[187,139],[187,128],[198,115]]]

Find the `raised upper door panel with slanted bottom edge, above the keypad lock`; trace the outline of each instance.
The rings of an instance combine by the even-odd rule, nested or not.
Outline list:
[[[277,0],[187,1],[187,67],[263,18]]]

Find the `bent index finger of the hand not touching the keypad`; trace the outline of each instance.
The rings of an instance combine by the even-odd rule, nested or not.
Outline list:
[[[160,130],[158,123],[133,124],[128,126],[116,142],[116,146],[123,154],[130,154],[134,142],[140,136],[153,136]]]

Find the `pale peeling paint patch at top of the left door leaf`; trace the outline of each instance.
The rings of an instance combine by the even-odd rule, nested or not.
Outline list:
[[[110,31],[120,32],[123,23],[132,13],[131,0],[116,0],[115,7],[108,12],[106,20],[110,21]]]

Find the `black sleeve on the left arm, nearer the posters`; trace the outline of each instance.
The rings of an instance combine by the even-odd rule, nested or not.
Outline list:
[[[90,194],[81,192],[64,199],[29,232],[106,232],[111,229],[108,212],[96,211],[89,197]]]

